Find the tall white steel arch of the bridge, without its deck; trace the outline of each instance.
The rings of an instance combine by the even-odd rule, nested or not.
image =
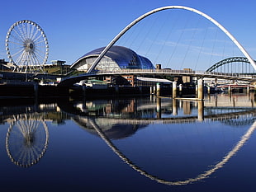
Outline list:
[[[184,7],[184,6],[166,6],[166,7],[159,7],[156,8],[150,12],[145,13],[144,15],[138,17],[137,19],[135,19],[135,21],[132,21],[128,26],[126,26],[123,30],[121,30],[121,32],[116,35],[116,37],[111,40],[111,42],[109,44],[107,44],[106,48],[102,50],[102,53],[99,54],[99,56],[97,57],[97,59],[94,61],[94,63],[92,64],[91,68],[88,69],[88,73],[91,73],[92,70],[97,66],[97,63],[100,62],[100,60],[102,59],[102,57],[107,53],[107,51],[111,48],[111,46],[113,44],[116,43],[117,40],[119,40],[121,38],[122,35],[124,35],[126,33],[127,30],[130,30],[130,28],[132,26],[135,26],[136,23],[140,22],[141,20],[143,20],[145,17],[150,16],[156,12],[161,12],[167,9],[184,9],[190,12],[195,12],[198,15],[201,15],[203,17],[205,17],[207,20],[211,21],[213,24],[215,24],[216,26],[218,26],[220,28],[220,30],[222,30],[225,35],[227,35],[230,40],[232,40],[235,45],[240,49],[240,51],[244,54],[244,56],[249,60],[249,63],[251,63],[251,65],[254,67],[254,69],[256,70],[256,63],[254,62],[254,59],[252,59],[252,57],[248,54],[248,52],[244,49],[244,47],[238,42],[238,40],[235,39],[235,37],[233,35],[230,34],[230,32],[228,30],[225,29],[224,26],[221,26],[219,22],[217,22],[216,20],[214,20],[213,18],[211,18],[211,16],[206,15],[203,12],[198,11],[197,9],[194,9],[192,7]]]

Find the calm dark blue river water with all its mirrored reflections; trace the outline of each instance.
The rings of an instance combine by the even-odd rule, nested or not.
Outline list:
[[[3,191],[255,191],[253,94],[0,109]]]

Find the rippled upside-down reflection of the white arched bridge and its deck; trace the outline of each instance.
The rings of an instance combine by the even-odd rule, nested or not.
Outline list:
[[[244,99],[241,99],[242,102],[246,102],[244,101]],[[221,99],[220,99],[221,101]],[[254,107],[237,107],[235,108],[234,106],[231,107],[227,107],[227,105],[225,104],[224,107],[218,106],[217,109],[215,109],[216,111],[219,112],[219,114],[214,114],[209,112],[209,110],[211,111],[212,108],[209,107],[208,111],[206,113],[210,114],[210,115],[204,115],[204,108],[207,109],[207,105],[211,106],[210,103],[208,103],[208,101],[206,101],[206,106],[204,106],[204,102],[203,101],[197,101],[197,102],[191,102],[191,101],[178,101],[178,100],[173,100],[171,101],[172,107],[173,107],[173,115],[175,115],[175,117],[172,118],[166,118],[166,117],[161,117],[161,110],[162,110],[162,102],[160,98],[156,99],[156,105],[148,105],[145,104],[144,105],[135,105],[137,106],[135,108],[135,111],[138,112],[138,109],[154,109],[154,111],[156,111],[156,116],[154,116],[154,118],[150,119],[150,118],[126,118],[123,119],[121,118],[121,116],[118,117],[99,117],[97,115],[77,115],[77,116],[73,116],[73,119],[80,124],[81,126],[83,126],[83,129],[90,129],[90,133],[93,133],[93,131],[95,132],[94,134],[97,134],[100,138],[102,138],[102,140],[107,144],[107,146],[109,148],[111,148],[111,150],[118,156],[121,158],[121,161],[125,162],[128,166],[130,166],[132,169],[134,169],[135,171],[138,171],[142,176],[145,176],[147,178],[149,178],[150,180],[155,180],[161,184],[164,185],[188,185],[188,184],[192,184],[194,182],[200,181],[200,180],[205,180],[206,178],[208,178],[209,176],[211,176],[214,172],[216,172],[217,170],[219,170],[220,168],[222,168],[227,162],[230,161],[231,157],[234,157],[235,154],[239,151],[240,148],[242,148],[244,146],[244,143],[246,143],[249,138],[251,137],[251,135],[254,133],[254,130],[256,129],[256,121],[255,121],[255,115],[256,115],[256,110],[254,109]],[[189,104],[188,104],[189,103]],[[179,116],[178,117],[178,110],[176,108],[178,108],[179,105],[183,105],[183,107],[185,109],[183,109],[185,114],[192,114],[192,106],[193,103],[197,104],[197,115],[195,116],[190,116],[190,117],[184,117],[184,116]],[[221,102],[220,102],[221,103]],[[146,108],[145,105],[148,105],[148,107]],[[169,107],[170,105],[167,105],[166,103],[164,103],[164,106]],[[186,109],[188,108],[188,109]],[[224,111],[221,111],[224,110]],[[189,111],[189,112],[188,112]],[[149,111],[148,111],[149,112]],[[152,111],[151,111],[152,112]],[[140,114],[140,113],[138,113]],[[114,137],[112,137],[112,135],[110,134],[111,129],[114,128],[115,131],[118,132],[118,127],[120,132],[122,131],[122,129],[124,128],[123,125],[125,125],[125,129],[126,129],[126,125],[129,124],[131,127],[132,125],[136,125],[135,129],[133,130],[133,132],[135,133],[135,131],[137,131],[140,128],[145,128],[147,126],[147,124],[170,124],[170,123],[175,123],[175,124],[183,124],[185,121],[187,120],[187,122],[198,122],[200,123],[201,121],[212,121],[212,120],[219,120],[220,122],[223,122],[225,124],[230,124],[231,126],[237,126],[240,124],[247,124],[250,125],[249,129],[246,131],[246,133],[244,133],[244,135],[242,135],[239,138],[239,141],[235,144],[235,146],[233,148],[231,148],[231,150],[229,152],[225,153],[225,156],[222,157],[220,159],[219,162],[217,162],[215,165],[209,165],[208,169],[206,169],[206,171],[203,171],[202,173],[199,173],[199,175],[195,176],[195,177],[191,177],[188,179],[184,179],[184,180],[167,180],[167,179],[162,179],[159,176],[156,176],[156,174],[150,174],[149,171],[146,171],[144,168],[138,166],[137,163],[133,162],[132,160],[130,160],[129,157],[126,157],[124,152],[121,152],[120,149],[118,149],[116,147],[116,145],[111,141],[112,139],[115,139]],[[86,126],[84,126],[86,125]],[[140,126],[139,126],[140,125]],[[107,128],[106,128],[107,127]],[[130,136],[130,133],[126,135],[127,137]],[[123,138],[124,135],[121,136],[121,138]]]

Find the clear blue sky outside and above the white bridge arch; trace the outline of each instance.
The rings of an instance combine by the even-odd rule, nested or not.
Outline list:
[[[213,17],[256,59],[254,0],[12,0],[1,2],[0,59],[7,59],[7,30],[16,21],[35,21],[49,41],[49,59],[72,64],[92,49],[106,46],[125,26],[157,7],[183,5]]]

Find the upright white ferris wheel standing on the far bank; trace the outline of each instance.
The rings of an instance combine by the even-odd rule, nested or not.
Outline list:
[[[34,21],[22,20],[14,23],[7,32],[7,57],[18,72],[43,72],[49,44],[44,30]]]

